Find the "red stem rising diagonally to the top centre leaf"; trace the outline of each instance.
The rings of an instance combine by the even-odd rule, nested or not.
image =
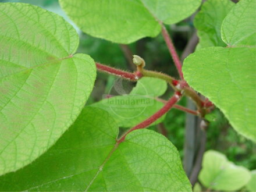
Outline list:
[[[162,24],[162,35],[163,35],[163,38],[165,39],[165,43],[169,49],[170,55],[172,55],[173,62],[175,63],[175,66],[179,72],[180,78],[184,79],[183,73],[182,73],[182,62],[180,62],[180,58],[177,55],[173,42],[168,34],[168,31],[166,30],[163,24]]]

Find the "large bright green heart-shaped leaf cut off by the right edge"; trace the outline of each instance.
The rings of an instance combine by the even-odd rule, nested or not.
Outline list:
[[[241,0],[223,20],[222,39],[232,48],[200,49],[190,55],[183,66],[184,77],[190,86],[211,99],[229,119],[234,129],[254,141],[255,3]],[[247,30],[248,28],[250,30]]]

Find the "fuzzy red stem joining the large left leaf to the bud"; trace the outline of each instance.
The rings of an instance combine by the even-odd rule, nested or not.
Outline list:
[[[123,79],[127,79],[130,81],[137,81],[138,79],[140,79],[140,77],[137,76],[137,74],[125,72],[120,69],[115,69],[106,65],[102,65],[101,63],[96,63],[96,67],[101,72],[113,74],[115,76],[119,76],[119,77],[122,77]]]

